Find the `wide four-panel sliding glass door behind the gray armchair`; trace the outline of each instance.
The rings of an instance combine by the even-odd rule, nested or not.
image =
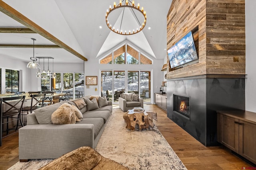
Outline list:
[[[101,71],[102,96],[118,104],[118,98],[124,92],[139,94],[144,102],[151,102],[150,71],[108,70]]]

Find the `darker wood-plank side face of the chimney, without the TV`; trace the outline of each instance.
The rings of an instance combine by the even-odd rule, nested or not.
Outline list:
[[[245,0],[206,0],[206,74],[245,74]]]

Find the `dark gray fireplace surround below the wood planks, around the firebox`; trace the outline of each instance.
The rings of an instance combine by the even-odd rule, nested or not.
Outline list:
[[[173,94],[190,96],[190,119],[173,111]],[[202,75],[167,82],[167,116],[209,147],[217,140],[216,110],[245,109],[244,75]]]

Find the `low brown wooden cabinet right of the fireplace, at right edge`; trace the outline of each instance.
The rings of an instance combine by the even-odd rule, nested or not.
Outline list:
[[[217,133],[219,143],[256,163],[256,113],[217,111]]]

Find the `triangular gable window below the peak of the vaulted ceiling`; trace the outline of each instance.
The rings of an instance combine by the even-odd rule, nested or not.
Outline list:
[[[100,64],[112,64],[112,61],[114,64],[152,64],[152,60],[127,44],[100,59]]]

